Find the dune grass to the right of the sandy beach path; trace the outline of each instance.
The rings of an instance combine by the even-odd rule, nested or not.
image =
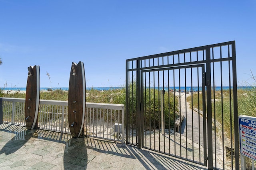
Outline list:
[[[237,93],[238,115],[256,117],[256,88],[252,86],[245,90],[240,89]],[[215,116],[219,123],[223,123],[226,135],[230,136],[231,129],[234,131],[233,91],[223,90],[222,93],[221,91],[215,91],[215,98],[213,94],[214,91],[212,90],[212,117]],[[187,101],[191,103],[191,96],[188,97]],[[202,108],[202,93],[199,94],[199,106]],[[198,95],[193,95],[193,107],[198,107]],[[230,122],[232,123],[230,124]]]

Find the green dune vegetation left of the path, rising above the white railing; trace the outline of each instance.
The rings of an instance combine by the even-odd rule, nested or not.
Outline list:
[[[134,89],[135,90],[135,89]],[[146,101],[145,101],[145,123],[150,125],[151,128],[160,126],[160,103],[158,96],[158,90],[146,89]],[[165,126],[166,128],[174,127],[174,110],[178,110],[178,103],[174,106],[174,96],[168,96],[168,92],[164,98],[164,115],[165,115]],[[25,98],[26,94],[21,92],[4,94],[6,98]],[[68,91],[65,90],[54,90],[50,92],[40,92],[40,99],[42,100],[61,100],[68,101]],[[177,99],[176,99],[177,101]],[[107,103],[107,104],[124,104],[126,106],[126,89],[110,89],[110,90],[96,90],[91,88],[86,90],[86,102],[92,103]],[[129,107],[131,114],[131,123],[136,124],[136,92],[130,93],[129,96]],[[175,109],[174,109],[175,108]],[[177,115],[176,115],[177,117]]]

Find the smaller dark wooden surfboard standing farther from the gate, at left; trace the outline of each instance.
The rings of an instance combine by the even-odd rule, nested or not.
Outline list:
[[[40,68],[28,67],[28,80],[25,100],[25,122],[28,130],[38,127],[38,109],[40,98]]]

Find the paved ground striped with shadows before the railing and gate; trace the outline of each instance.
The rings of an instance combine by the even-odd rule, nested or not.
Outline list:
[[[207,169],[187,162],[166,156],[152,150],[138,149],[131,145],[125,145],[116,141],[105,141],[102,139],[82,137],[71,138],[70,134],[45,131],[41,129],[27,131],[26,127],[17,125],[1,125],[0,131],[5,131],[6,136],[2,138],[1,156],[15,153],[23,154],[22,147],[34,147],[32,153],[44,149],[44,154],[38,156],[38,164],[32,168],[40,167],[47,163],[55,169]],[[47,140],[47,146],[44,141]],[[40,144],[42,149],[36,145]],[[35,145],[35,146],[34,146]],[[58,152],[52,150],[58,145]],[[19,150],[20,149],[20,150]],[[33,149],[33,148],[31,148]],[[26,149],[23,149],[26,150]],[[2,154],[5,153],[5,154]],[[52,157],[49,157],[52,156]],[[58,161],[58,162],[53,162]],[[54,164],[55,163],[55,164]],[[47,166],[47,165],[45,165]],[[26,167],[28,165],[26,164]],[[42,167],[41,167],[42,168]]]

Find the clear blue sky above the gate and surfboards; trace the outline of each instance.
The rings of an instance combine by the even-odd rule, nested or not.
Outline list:
[[[0,0],[0,87],[26,87],[30,65],[68,87],[79,61],[87,87],[124,86],[126,59],[233,40],[238,85],[253,83],[255,30],[255,0]]]

